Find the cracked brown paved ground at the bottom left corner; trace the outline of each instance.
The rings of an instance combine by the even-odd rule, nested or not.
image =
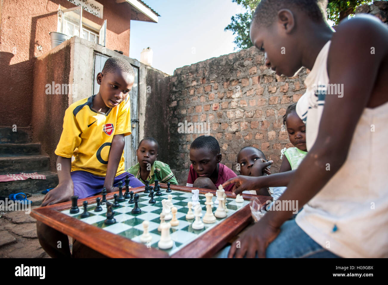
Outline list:
[[[31,209],[39,207],[44,197],[29,197]],[[50,258],[36,236],[36,220],[26,211],[0,212],[0,258]]]

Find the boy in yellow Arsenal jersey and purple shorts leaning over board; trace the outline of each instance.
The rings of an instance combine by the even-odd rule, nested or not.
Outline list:
[[[141,183],[125,171],[124,136],[131,134],[130,92],[135,77],[132,66],[119,57],[109,58],[97,74],[100,91],[79,100],[65,112],[63,131],[55,154],[59,184],[43,199],[42,206],[114,192],[119,181],[130,176],[130,186]],[[71,157],[75,159],[72,162]],[[68,238],[37,222],[39,242],[51,257],[70,257]],[[61,241],[62,247],[58,248]]]

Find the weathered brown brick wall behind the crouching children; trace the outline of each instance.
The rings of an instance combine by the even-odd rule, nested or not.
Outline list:
[[[178,124],[210,124],[220,143],[222,163],[236,170],[237,153],[247,145],[272,159],[274,173],[280,150],[290,147],[281,131],[288,105],[305,92],[306,69],[293,78],[277,76],[264,64],[264,55],[251,47],[175,70],[170,79],[168,164],[180,184],[186,183],[191,142],[201,134],[180,133]]]

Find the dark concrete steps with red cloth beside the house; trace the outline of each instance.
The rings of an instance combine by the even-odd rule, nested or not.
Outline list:
[[[58,176],[49,171],[50,159],[40,155],[40,143],[31,143],[29,135],[21,128],[0,128],[0,175],[7,173],[38,172],[45,180],[31,179],[0,182],[0,196],[11,193],[40,193],[58,185]]]

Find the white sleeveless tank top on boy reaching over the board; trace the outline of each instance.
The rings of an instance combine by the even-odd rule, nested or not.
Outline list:
[[[317,138],[329,83],[330,43],[317,56],[305,80],[307,91],[296,105],[306,123],[308,150]],[[341,114],[334,115],[341,119]],[[345,163],[296,216],[296,223],[315,242],[338,256],[388,257],[387,122],[388,102],[364,109]]]

